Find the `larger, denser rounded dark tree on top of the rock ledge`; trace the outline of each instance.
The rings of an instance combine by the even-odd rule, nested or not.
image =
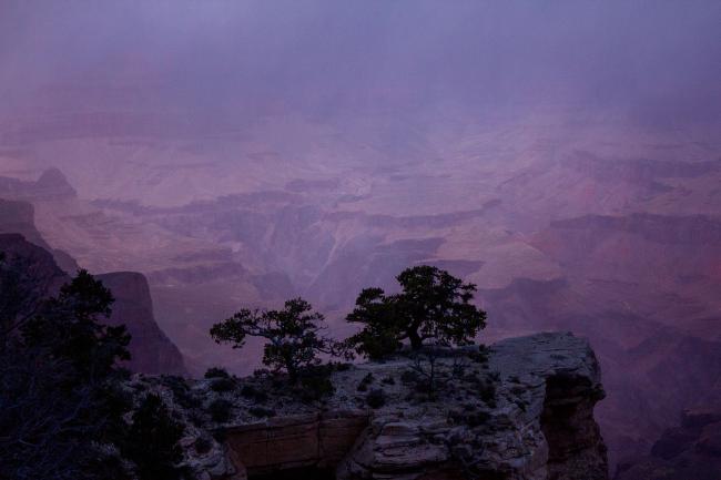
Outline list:
[[[404,340],[414,350],[427,340],[436,346],[468,345],[486,326],[486,313],[470,303],[474,284],[428,265],[407,268],[396,278],[399,294],[366,288],[346,317],[364,325],[346,340],[359,354],[380,358],[396,351]]]

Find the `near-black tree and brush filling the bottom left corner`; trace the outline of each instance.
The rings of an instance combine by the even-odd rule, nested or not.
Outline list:
[[[17,267],[23,266],[2,265]],[[12,298],[34,295],[32,275],[1,276],[12,288],[0,292],[0,306],[11,305],[0,315],[22,321],[13,320],[0,344],[0,478],[122,478],[120,462],[98,448],[122,438],[130,407],[118,366],[129,358],[130,337],[100,323],[110,314],[110,292],[79,272],[55,298],[35,298],[19,314]]]

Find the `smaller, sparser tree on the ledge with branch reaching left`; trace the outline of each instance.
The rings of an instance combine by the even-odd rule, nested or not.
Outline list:
[[[285,369],[295,384],[303,372],[321,364],[319,354],[337,355],[338,344],[321,335],[323,315],[303,298],[285,302],[282,310],[242,309],[226,320],[213,325],[211,336],[219,344],[242,348],[247,337],[266,340],[263,364]]]

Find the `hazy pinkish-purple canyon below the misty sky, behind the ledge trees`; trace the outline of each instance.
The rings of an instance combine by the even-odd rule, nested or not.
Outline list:
[[[219,137],[181,135],[163,118],[108,119],[161,140],[98,132],[104,116],[92,118],[62,132],[32,118],[6,125],[0,197],[31,202],[37,228],[3,228],[42,236],[67,269],[61,252],[95,274],[142,273],[193,375],[257,367],[260,345],[238,354],[207,335],[241,306],[303,295],[342,338],[363,287],[393,289],[398,272],[425,263],[478,285],[490,319],[481,341],[538,330],[591,340],[612,464],[650,452],[720,381],[711,126],[536,108],[272,116]]]

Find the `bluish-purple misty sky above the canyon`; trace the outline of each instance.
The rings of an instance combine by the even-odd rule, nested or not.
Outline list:
[[[0,109],[562,102],[708,121],[719,25],[718,0],[4,0]]]

